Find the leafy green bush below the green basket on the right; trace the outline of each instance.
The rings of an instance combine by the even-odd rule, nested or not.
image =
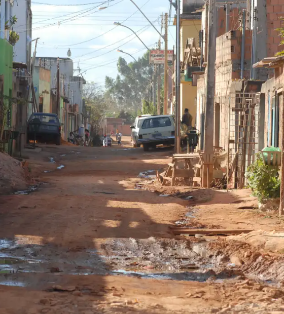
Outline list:
[[[253,191],[253,195],[260,203],[268,199],[280,197],[280,180],[278,169],[266,166],[261,153],[257,154],[257,160],[247,169],[247,183]]]

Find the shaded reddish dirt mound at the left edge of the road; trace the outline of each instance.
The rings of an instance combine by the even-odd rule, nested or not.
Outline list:
[[[0,152],[0,194],[26,187],[26,172],[21,162]]]

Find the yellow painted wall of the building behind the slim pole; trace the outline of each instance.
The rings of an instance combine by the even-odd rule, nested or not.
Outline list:
[[[181,60],[184,60],[184,50],[188,38],[195,38],[195,45],[199,47],[199,31],[201,30],[201,20],[182,20],[181,27]],[[181,81],[181,115],[185,108],[189,109],[193,117],[192,126],[196,123],[196,95],[197,87],[191,82]]]

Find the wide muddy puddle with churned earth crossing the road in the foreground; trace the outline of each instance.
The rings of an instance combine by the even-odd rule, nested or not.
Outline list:
[[[214,255],[210,241],[189,242],[175,239],[115,239],[96,250],[60,248],[55,245],[27,245],[26,239],[0,240],[0,285],[40,285],[36,274],[45,274],[50,282],[60,274],[130,276],[175,281],[212,281],[236,279],[244,274],[230,265],[222,252]],[[216,252],[215,252],[216,253]],[[246,273],[245,276],[250,276]],[[269,276],[256,279],[273,282]]]

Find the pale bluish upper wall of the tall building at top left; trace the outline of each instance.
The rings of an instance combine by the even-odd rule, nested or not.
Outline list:
[[[14,46],[14,61],[25,63],[30,70],[32,14],[31,0],[13,1],[11,16],[17,17],[14,30],[19,33],[19,41]]]

